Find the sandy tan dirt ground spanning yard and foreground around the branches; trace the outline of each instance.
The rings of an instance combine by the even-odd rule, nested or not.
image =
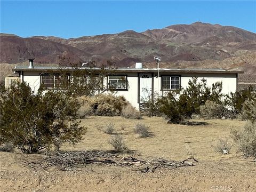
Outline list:
[[[89,117],[82,119],[87,127],[84,140],[76,148],[63,145],[62,150],[111,150],[110,135],[98,127],[114,123],[132,156],[139,158],[163,157],[183,160],[194,156],[199,162],[193,167],[161,169],[154,173],[133,172],[127,167],[88,165],[72,171],[48,170],[31,166],[43,155],[0,152],[0,191],[256,191],[256,163],[244,159],[237,147],[228,155],[215,153],[213,140],[230,137],[231,127],[245,122],[229,119],[194,119],[200,125],[167,124],[160,117],[141,120],[121,117]],[[133,126],[145,123],[154,133],[151,138],[139,138]],[[231,141],[231,140],[230,140]],[[119,154],[127,156],[130,154]]]

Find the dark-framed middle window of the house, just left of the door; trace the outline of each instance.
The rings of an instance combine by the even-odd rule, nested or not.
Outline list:
[[[108,76],[108,88],[117,90],[127,89],[127,77],[125,75]]]

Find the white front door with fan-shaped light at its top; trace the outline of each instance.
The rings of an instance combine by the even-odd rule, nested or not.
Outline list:
[[[140,77],[140,103],[144,100],[148,100],[152,95],[152,74],[143,73]]]

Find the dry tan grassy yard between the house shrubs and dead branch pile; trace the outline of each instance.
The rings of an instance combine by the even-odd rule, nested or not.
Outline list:
[[[130,150],[134,150],[137,155],[144,157],[164,157],[169,159],[184,159],[193,154],[198,160],[220,160],[223,158],[235,157],[237,148],[234,146],[229,155],[215,153],[211,147],[214,139],[228,137],[230,128],[242,127],[245,122],[237,119],[192,119],[196,122],[206,122],[206,125],[175,125],[167,124],[161,117],[143,117],[143,119],[123,119],[122,117],[89,117],[82,119],[82,124],[87,126],[84,140],[78,143],[76,148],[65,144],[65,150],[112,150],[108,143],[110,136],[98,130],[97,127],[113,123],[116,132],[125,139]],[[133,127],[137,123],[150,126],[150,131],[154,133],[152,138],[138,138],[133,132]],[[125,126],[125,129],[121,127]]]

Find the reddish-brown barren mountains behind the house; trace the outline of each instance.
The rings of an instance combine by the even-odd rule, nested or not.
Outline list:
[[[202,22],[69,39],[1,34],[1,63],[34,57],[36,63],[69,65],[89,60],[127,67],[141,61],[150,67],[155,66],[154,55],[162,58],[162,67],[234,68],[256,75],[256,34]]]

